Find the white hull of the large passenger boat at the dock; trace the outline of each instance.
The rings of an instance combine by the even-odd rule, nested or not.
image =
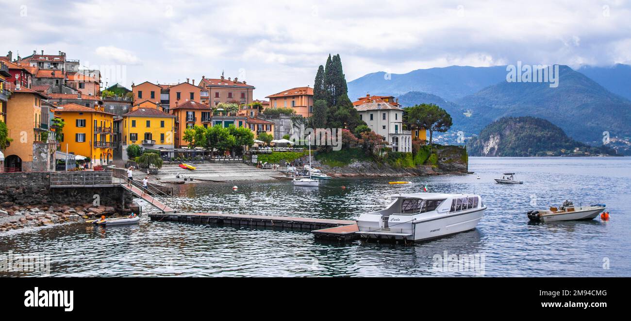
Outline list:
[[[427,239],[442,238],[444,236],[475,229],[480,219],[484,216],[486,209],[487,207],[482,207],[468,212],[428,218],[423,221],[404,222],[401,221],[401,217],[395,216],[390,218],[389,226],[391,226],[391,228],[389,229],[360,231],[358,234],[360,234],[362,238],[404,241],[424,241]]]

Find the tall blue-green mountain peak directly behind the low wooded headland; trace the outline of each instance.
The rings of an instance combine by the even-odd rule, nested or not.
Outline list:
[[[630,101],[568,66],[560,66],[559,70],[557,88],[550,88],[548,83],[503,81],[456,100],[463,109],[473,112],[474,117],[464,124],[466,129],[477,133],[488,120],[535,116],[556,124],[576,140],[594,145],[601,143],[603,131],[611,136],[631,135]]]

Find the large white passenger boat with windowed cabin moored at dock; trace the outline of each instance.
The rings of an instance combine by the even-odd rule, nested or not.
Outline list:
[[[392,195],[386,209],[362,214],[363,238],[420,241],[475,229],[487,209],[479,195],[411,193]]]

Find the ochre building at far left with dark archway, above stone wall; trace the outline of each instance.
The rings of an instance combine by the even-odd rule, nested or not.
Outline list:
[[[13,142],[3,151],[4,171],[50,171],[56,143],[49,124],[42,120],[42,102],[48,97],[15,85],[10,90],[4,120]]]

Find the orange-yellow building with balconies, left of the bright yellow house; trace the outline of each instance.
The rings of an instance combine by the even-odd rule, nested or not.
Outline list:
[[[94,165],[107,165],[112,161],[114,147],[114,114],[97,109],[66,104],[57,107],[55,116],[64,120],[61,151],[90,157]]]

